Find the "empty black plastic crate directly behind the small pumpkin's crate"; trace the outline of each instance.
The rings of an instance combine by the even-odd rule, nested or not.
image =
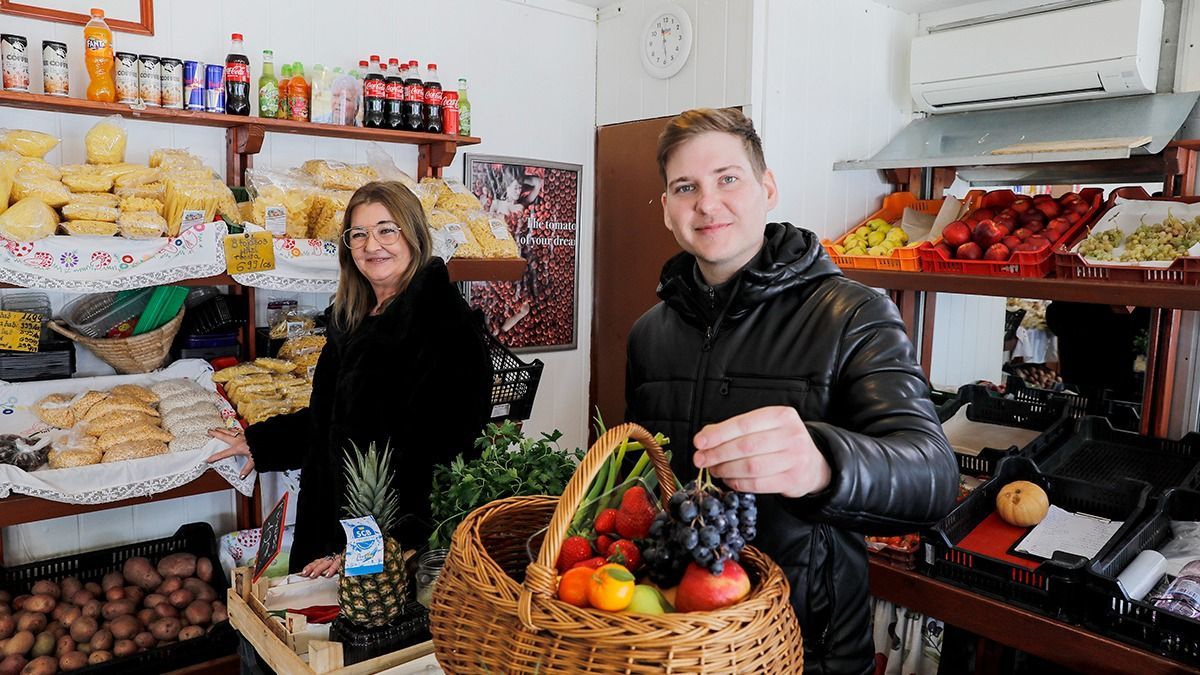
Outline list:
[[[1043,471],[1096,484],[1144,480],[1154,495],[1200,483],[1200,434],[1178,441],[1112,429],[1103,417],[1085,417],[1075,435],[1034,458]]]

